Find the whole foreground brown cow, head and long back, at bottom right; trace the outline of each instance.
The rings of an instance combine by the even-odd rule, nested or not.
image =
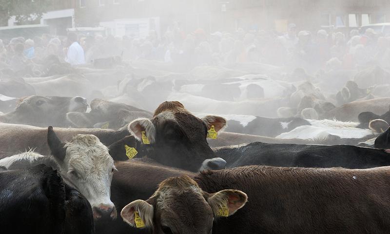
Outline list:
[[[183,175],[121,216],[153,234],[386,234],[389,169],[246,166]]]

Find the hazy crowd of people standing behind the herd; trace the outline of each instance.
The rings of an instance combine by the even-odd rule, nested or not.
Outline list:
[[[259,30],[207,34],[203,29],[184,33],[173,23],[159,38],[134,36],[43,35],[32,39],[22,36],[0,40],[0,63],[13,71],[23,70],[31,60],[54,54],[71,65],[94,59],[120,56],[123,60],[147,59],[173,62],[183,66],[228,65],[259,62],[275,66],[318,69],[355,69],[368,64],[389,66],[390,35],[368,28],[349,34],[326,31],[297,31],[293,23],[285,34]]]

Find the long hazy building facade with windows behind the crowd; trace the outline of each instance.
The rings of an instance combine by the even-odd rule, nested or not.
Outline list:
[[[113,35],[161,34],[174,21],[185,32],[358,28],[390,21],[389,0],[75,0],[76,27],[104,26]]]

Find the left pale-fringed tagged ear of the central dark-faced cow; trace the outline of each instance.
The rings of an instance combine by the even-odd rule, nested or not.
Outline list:
[[[145,136],[148,137],[151,144],[155,142],[156,128],[150,119],[139,118],[133,120],[129,124],[128,129],[129,132],[140,142],[142,142],[142,131],[145,132]]]

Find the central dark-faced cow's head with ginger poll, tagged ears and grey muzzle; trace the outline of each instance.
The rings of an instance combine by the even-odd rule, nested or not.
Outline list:
[[[199,119],[179,102],[164,102],[156,109],[152,120],[140,118],[128,128],[141,142],[144,132],[150,142],[147,145],[150,158],[164,165],[197,171],[204,160],[215,157],[206,140],[212,126],[215,131],[221,131],[226,120],[219,116]]]

